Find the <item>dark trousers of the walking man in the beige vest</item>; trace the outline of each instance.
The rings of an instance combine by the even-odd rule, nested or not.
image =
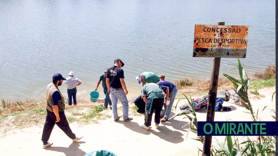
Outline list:
[[[55,124],[57,124],[57,126],[62,129],[63,132],[65,132],[65,134],[70,137],[71,139],[75,139],[75,134],[72,133],[71,129],[70,129],[70,125],[67,121],[67,118],[65,117],[65,112],[59,112],[59,116],[60,116],[60,121],[56,122],[56,116],[53,112],[50,112],[48,110],[46,110],[46,120],[45,120],[45,124],[44,124],[44,130],[43,130],[43,134],[41,137],[42,142],[44,143],[44,145],[47,144],[50,134],[52,132],[52,129],[54,127]]]

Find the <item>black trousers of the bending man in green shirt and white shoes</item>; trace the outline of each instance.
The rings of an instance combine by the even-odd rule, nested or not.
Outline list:
[[[155,110],[154,123],[156,124],[160,123],[160,112],[162,110],[163,103],[164,103],[164,98],[154,99],[150,114],[145,111],[145,125],[147,127],[151,125],[154,110]]]

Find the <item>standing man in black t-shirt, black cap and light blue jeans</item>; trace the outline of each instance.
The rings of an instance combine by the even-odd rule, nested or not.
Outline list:
[[[108,93],[111,93],[112,98],[112,112],[114,121],[118,121],[120,117],[117,112],[117,102],[118,100],[123,105],[123,118],[124,121],[133,120],[132,117],[128,117],[128,100],[126,95],[128,94],[125,82],[124,82],[124,63],[120,59],[114,60],[114,65],[108,68],[106,76],[106,85],[108,87]]]

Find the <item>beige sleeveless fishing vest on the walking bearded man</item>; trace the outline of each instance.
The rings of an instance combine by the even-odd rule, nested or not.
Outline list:
[[[58,91],[60,93],[60,96],[61,96],[61,100],[58,101],[58,111],[63,112],[63,111],[65,111],[64,97],[62,96],[58,87],[56,87],[53,83],[48,84],[47,87],[46,87],[46,109],[50,112],[53,112],[52,95],[56,91]]]

